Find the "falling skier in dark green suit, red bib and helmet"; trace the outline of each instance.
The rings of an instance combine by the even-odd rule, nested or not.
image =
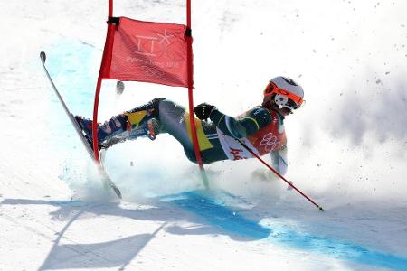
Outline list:
[[[258,155],[270,154],[271,165],[280,174],[287,172],[287,138],[284,117],[303,104],[304,91],[286,77],[271,79],[264,89],[261,106],[239,117],[224,115],[213,105],[202,103],[194,107],[196,132],[204,164],[222,160],[253,157],[235,138]],[[207,119],[210,121],[207,121]],[[91,145],[92,121],[76,116]],[[184,147],[187,158],[196,163],[192,143],[189,113],[184,107],[165,98],[155,98],[141,107],[133,108],[98,124],[99,148],[118,142],[168,133]]]

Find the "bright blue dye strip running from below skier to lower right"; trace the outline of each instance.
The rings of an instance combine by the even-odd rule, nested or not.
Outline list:
[[[241,216],[238,211],[217,201],[218,197],[233,197],[230,193],[216,193],[192,191],[176,195],[161,197],[163,201],[170,201],[182,209],[194,213],[209,222],[214,227],[225,232],[251,239],[266,239],[272,243],[289,248],[297,248],[319,253],[337,259],[352,261],[369,266],[386,267],[393,270],[406,270],[407,258],[374,251],[369,248],[354,245],[344,240],[327,238],[313,234],[300,233],[287,228],[275,228],[272,224],[265,227],[258,221]],[[224,202],[224,201],[223,201]]]

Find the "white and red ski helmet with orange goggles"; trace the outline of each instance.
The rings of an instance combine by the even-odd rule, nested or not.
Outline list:
[[[279,108],[298,109],[304,102],[304,90],[293,79],[288,77],[276,77],[270,79],[264,89],[263,103],[271,102]]]

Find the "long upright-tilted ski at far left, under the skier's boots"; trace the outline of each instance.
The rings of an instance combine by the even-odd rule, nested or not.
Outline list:
[[[63,107],[63,109],[64,109],[66,115],[67,115],[67,116],[69,117],[69,119],[71,120],[71,125],[75,128],[75,131],[76,131],[77,135],[80,137],[80,141],[81,141],[82,144],[85,146],[85,149],[87,150],[88,154],[90,155],[90,159],[92,159],[92,161],[95,162],[95,164],[97,164],[97,166],[98,166],[98,171],[99,171],[100,179],[101,179],[101,182],[103,183],[103,186],[104,186],[105,188],[110,187],[110,188],[118,195],[118,198],[121,199],[121,192],[120,192],[120,190],[118,189],[118,187],[116,186],[116,184],[115,184],[113,181],[111,181],[111,179],[110,179],[108,173],[106,173],[106,171],[105,171],[105,169],[104,169],[104,167],[103,167],[103,164],[101,164],[101,163],[99,163],[99,162],[97,163],[97,162],[95,161],[94,156],[93,156],[93,150],[92,150],[92,148],[90,147],[90,144],[89,144],[89,142],[88,142],[88,139],[85,137],[85,135],[83,135],[82,130],[80,129],[80,126],[78,125],[78,123],[77,123],[76,120],[75,120],[75,117],[72,115],[71,111],[70,111],[69,108],[66,106],[66,104],[65,104],[65,102],[64,102],[64,100],[63,100],[63,98],[62,98],[62,96],[61,96],[61,94],[60,94],[60,92],[58,91],[58,89],[56,88],[55,84],[53,83],[52,78],[51,78],[51,75],[50,75],[50,73],[48,72],[48,70],[47,70],[47,68],[46,68],[46,66],[45,66],[45,61],[46,61],[46,54],[45,54],[45,52],[42,51],[42,52],[40,53],[40,58],[41,58],[41,61],[42,61],[42,63],[43,63],[43,70],[45,70],[45,74],[47,75],[48,79],[50,80],[50,83],[51,83],[51,85],[52,85],[52,89],[55,91],[55,94],[57,95],[58,99],[60,100],[60,102],[61,102],[61,104],[62,104],[62,107]]]

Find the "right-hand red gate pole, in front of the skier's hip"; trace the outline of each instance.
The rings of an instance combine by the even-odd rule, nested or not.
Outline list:
[[[206,189],[209,189],[208,177],[204,171],[201,152],[199,150],[198,137],[196,135],[196,126],[194,120],[194,66],[193,66],[193,51],[192,51],[192,33],[191,33],[191,0],[186,0],[186,42],[187,42],[187,62],[188,62],[188,103],[189,103],[189,121],[191,123],[191,134],[194,145],[194,153],[196,162],[199,165],[201,177]]]

